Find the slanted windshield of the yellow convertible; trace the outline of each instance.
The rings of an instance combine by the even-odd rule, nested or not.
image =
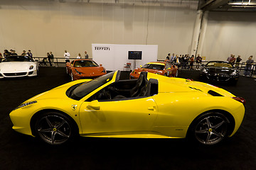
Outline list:
[[[85,82],[84,84],[75,84],[74,86],[70,87],[68,91],[68,97],[73,98],[74,100],[79,101],[81,98],[85,97],[90,92],[94,91],[95,89],[99,88],[103,84],[112,80],[114,72],[110,72],[109,74],[105,74],[102,77],[98,77],[92,81]]]

